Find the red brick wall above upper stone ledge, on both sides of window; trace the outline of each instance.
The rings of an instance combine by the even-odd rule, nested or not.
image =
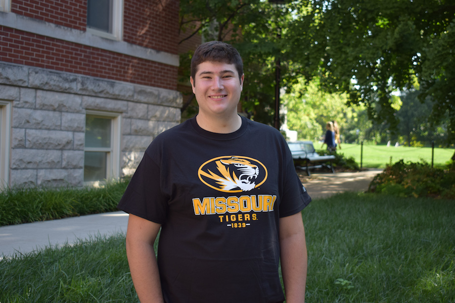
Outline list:
[[[177,54],[178,0],[124,0],[123,40]],[[11,12],[85,31],[87,0],[13,0]]]

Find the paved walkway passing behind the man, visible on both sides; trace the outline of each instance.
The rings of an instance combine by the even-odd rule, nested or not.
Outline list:
[[[313,173],[302,178],[314,199],[343,191],[365,191],[380,170],[356,173]],[[0,259],[4,256],[27,254],[44,247],[74,243],[97,235],[126,232],[128,215],[113,212],[60,220],[34,222],[0,227]]]

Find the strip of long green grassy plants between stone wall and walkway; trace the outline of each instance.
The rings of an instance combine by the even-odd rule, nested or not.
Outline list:
[[[101,187],[8,188],[0,193],[0,226],[117,210],[129,179]]]

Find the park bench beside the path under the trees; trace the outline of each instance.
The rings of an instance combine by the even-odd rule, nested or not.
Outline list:
[[[288,142],[291,149],[292,159],[296,168],[303,169],[310,176],[310,169],[327,167],[335,173],[332,161],[335,156],[320,156],[316,153],[313,142],[311,141],[294,141]],[[328,164],[330,163],[330,164]],[[301,164],[304,164],[303,166]]]

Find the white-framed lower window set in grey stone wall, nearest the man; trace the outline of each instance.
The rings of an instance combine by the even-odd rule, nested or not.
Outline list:
[[[86,112],[84,182],[120,176],[120,119],[119,114]]]

